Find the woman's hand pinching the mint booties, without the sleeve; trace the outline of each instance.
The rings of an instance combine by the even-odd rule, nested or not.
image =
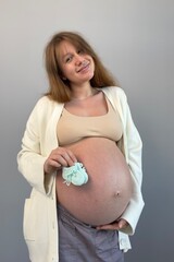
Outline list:
[[[73,152],[65,147],[51,151],[44,165],[45,174],[51,174],[62,167],[73,166],[77,162]]]

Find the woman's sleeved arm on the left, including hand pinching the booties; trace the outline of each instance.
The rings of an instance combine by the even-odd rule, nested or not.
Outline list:
[[[37,103],[28,118],[22,150],[17,154],[18,170],[33,188],[44,194],[50,193],[57,170],[77,160],[70,150],[58,146],[55,128],[61,108],[57,105],[54,111],[46,97]]]

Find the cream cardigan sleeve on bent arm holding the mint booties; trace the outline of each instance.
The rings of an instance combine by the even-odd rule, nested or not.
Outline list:
[[[20,172],[25,177],[28,183],[37,191],[49,194],[53,176],[45,176],[44,164],[46,162],[46,154],[41,150],[44,127],[42,117],[42,99],[40,99],[34,107],[22,139],[22,150],[17,154],[17,164]]]

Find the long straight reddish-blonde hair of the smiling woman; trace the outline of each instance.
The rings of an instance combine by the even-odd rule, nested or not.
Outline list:
[[[79,34],[74,32],[60,32],[52,36],[45,49],[46,71],[49,80],[49,91],[46,95],[59,103],[66,103],[71,99],[70,82],[62,78],[61,68],[58,62],[59,44],[63,40],[70,41],[75,48],[82,49],[94,59],[95,73],[90,80],[92,87],[102,88],[104,86],[116,85],[115,80],[104,68],[95,50]]]

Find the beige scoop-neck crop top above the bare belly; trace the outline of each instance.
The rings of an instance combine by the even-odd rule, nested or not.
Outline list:
[[[79,117],[64,108],[57,127],[59,144],[70,145],[89,136],[119,141],[123,132],[121,118],[108,99],[107,104],[108,112],[97,117]]]

